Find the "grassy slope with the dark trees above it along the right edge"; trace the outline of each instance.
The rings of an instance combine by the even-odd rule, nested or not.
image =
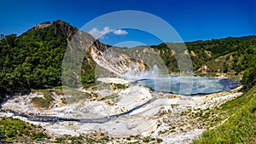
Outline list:
[[[244,95],[228,101],[220,107],[230,118],[217,128],[207,130],[193,143],[256,143],[256,47],[255,39],[248,41],[247,47],[233,54],[243,64],[242,84]],[[236,64],[237,65],[237,64]]]

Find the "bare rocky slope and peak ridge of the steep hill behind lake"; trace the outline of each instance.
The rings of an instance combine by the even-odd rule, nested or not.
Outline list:
[[[55,37],[67,39],[67,50],[63,60],[68,66],[74,65],[72,68],[69,67],[69,70],[74,70],[72,72],[76,75],[74,78],[80,72],[95,73],[96,75],[103,73],[104,77],[123,77],[127,72],[137,73],[152,68],[154,65],[164,65],[159,54],[150,47],[143,46],[133,49],[110,47],[89,33],[79,31],[62,20],[41,23],[34,26],[31,31],[49,26],[51,26],[49,30],[54,31]],[[161,69],[161,67],[159,68]],[[67,70],[64,67],[65,71]]]

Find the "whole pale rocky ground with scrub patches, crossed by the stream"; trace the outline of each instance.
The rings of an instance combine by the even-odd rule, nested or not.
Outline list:
[[[15,95],[2,104],[1,117],[20,118],[41,125],[49,135],[90,135],[103,133],[113,137],[113,142],[134,141],[119,139],[131,135],[160,138],[162,143],[189,143],[204,130],[221,124],[223,119],[212,109],[242,93],[233,89],[212,95],[172,95],[154,92],[143,86],[129,84],[119,78],[101,78],[103,85],[84,90],[52,90],[49,107],[38,107],[34,97],[44,99],[44,92]],[[111,83],[111,84],[106,84]],[[61,92],[60,92],[61,91]],[[85,93],[85,95],[84,95]],[[82,94],[82,95],[80,95]],[[149,102],[148,102],[149,101]],[[148,102],[148,103],[147,103]],[[134,107],[136,109],[132,110]],[[125,113],[103,123],[88,121],[40,122],[17,116],[54,116],[59,118],[97,119]]]

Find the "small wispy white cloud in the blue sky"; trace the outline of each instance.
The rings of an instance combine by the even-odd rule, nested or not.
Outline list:
[[[104,38],[104,35],[107,33],[113,33],[115,35],[126,35],[128,34],[128,32],[124,31],[124,30],[116,30],[116,29],[110,29],[108,26],[104,27],[103,30],[98,30],[96,27],[92,28],[88,33],[90,33],[90,35],[92,35],[95,38]]]

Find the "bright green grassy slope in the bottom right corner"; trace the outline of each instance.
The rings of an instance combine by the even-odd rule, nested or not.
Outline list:
[[[224,103],[220,110],[230,119],[213,130],[207,130],[193,143],[256,143],[256,86],[246,94]]]

